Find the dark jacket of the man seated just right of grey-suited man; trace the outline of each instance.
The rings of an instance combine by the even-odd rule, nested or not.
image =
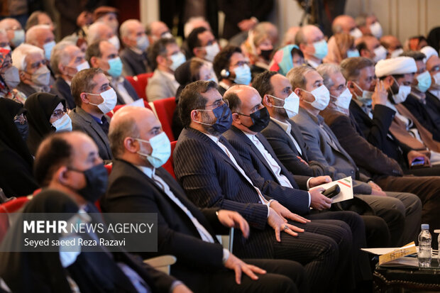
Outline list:
[[[381,175],[402,176],[400,165],[365,140],[352,116],[329,107],[321,111],[320,115],[324,117],[343,149],[365,174],[373,178]]]

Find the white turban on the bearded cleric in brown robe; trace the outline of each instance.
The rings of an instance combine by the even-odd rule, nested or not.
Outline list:
[[[417,72],[417,65],[412,57],[395,57],[380,60],[375,66],[375,74],[377,77],[415,72]]]

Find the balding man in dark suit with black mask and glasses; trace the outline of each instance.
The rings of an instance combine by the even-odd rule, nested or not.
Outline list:
[[[325,197],[319,188],[314,185],[323,182],[330,182],[329,176],[309,177],[302,190],[309,190],[304,194],[307,201],[304,203],[301,197],[295,196],[299,193],[299,186],[295,179],[302,179],[303,176],[292,175],[277,159],[268,140],[259,133],[270,121],[268,110],[261,104],[261,96],[256,89],[245,85],[235,85],[224,94],[224,99],[229,101],[229,109],[232,112],[233,126],[224,133],[224,137],[236,149],[243,160],[243,164],[257,170],[258,174],[266,180],[275,182],[284,188],[285,198],[277,197],[281,204],[295,211],[295,206],[305,204],[305,214],[308,219],[338,219],[346,221],[353,234],[353,260],[361,270],[355,270],[356,280],[370,280],[370,265],[367,255],[361,253],[360,248],[365,247],[365,229],[361,216],[352,211],[319,212],[329,209],[331,199]],[[307,177],[306,177],[307,178]],[[303,197],[303,198],[304,198]],[[311,208],[313,208],[311,212]],[[346,274],[344,274],[346,275]]]

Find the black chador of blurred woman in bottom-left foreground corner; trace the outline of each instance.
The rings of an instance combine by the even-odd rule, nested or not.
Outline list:
[[[26,204],[21,216],[26,213],[65,213],[65,219],[76,214],[78,206],[75,201],[62,192],[46,189]],[[1,251],[13,251],[22,245],[26,234],[21,233],[22,221],[16,221],[9,228]],[[60,255],[54,253],[0,253],[0,277],[12,292],[71,292],[66,278],[66,270],[60,262]]]

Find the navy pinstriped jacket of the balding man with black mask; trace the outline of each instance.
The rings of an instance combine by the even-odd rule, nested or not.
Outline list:
[[[276,199],[283,206],[290,209],[293,213],[297,214],[309,214],[309,194],[304,190],[299,190],[299,186],[295,181],[292,173],[287,171],[287,169],[282,165],[282,163],[277,159],[277,156],[270,147],[268,141],[264,136],[258,133],[257,138],[264,145],[265,149],[268,150],[270,155],[277,161],[278,165],[281,167],[281,174],[285,175],[289,179],[292,188],[282,187],[280,182],[278,182],[277,177],[270,168],[270,165],[265,160],[263,155],[260,153],[258,148],[252,143],[252,141],[244,134],[240,129],[232,126],[229,131],[224,133],[224,137],[231,143],[233,148],[236,149],[237,153],[240,155],[243,164],[248,170],[255,169],[258,175],[263,177],[268,184],[273,185],[273,192],[270,196]],[[307,179],[309,177],[297,176],[299,179],[299,184],[301,184],[302,189],[307,189]]]

